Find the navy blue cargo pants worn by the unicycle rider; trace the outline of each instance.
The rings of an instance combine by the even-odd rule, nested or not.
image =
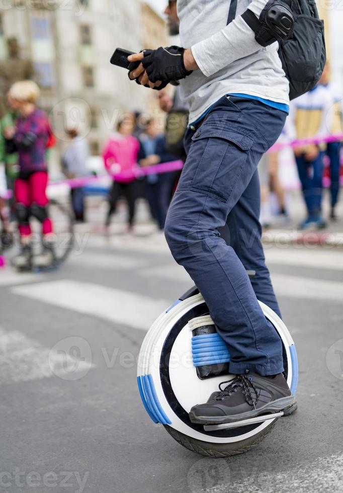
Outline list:
[[[280,314],[261,243],[256,170],[286,116],[256,100],[222,97],[187,131],[188,156],[166,218],[170,251],[203,295],[235,374],[283,371],[281,340],[258,303]]]

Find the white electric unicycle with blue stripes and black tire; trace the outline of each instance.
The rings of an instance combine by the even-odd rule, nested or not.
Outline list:
[[[280,317],[260,302],[283,344],[285,377],[293,394],[298,383],[297,353]],[[138,387],[146,412],[178,443],[193,452],[225,457],[246,452],[274,428],[281,413],[223,425],[196,425],[188,413],[206,402],[220,382],[230,379],[227,346],[217,334],[196,287],[162,313],[148,331],[138,358]],[[233,378],[233,376],[232,376]]]

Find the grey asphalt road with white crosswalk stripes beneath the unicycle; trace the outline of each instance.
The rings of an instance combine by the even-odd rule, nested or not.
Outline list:
[[[268,245],[299,410],[249,453],[208,459],[150,421],[136,385],[149,324],[190,280],[159,235],[78,234],[59,271],[0,271],[0,493],[343,491],[342,249]]]

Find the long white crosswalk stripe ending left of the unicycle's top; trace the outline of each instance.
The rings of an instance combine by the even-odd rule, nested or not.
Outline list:
[[[152,299],[99,284],[61,280],[14,287],[15,294],[147,331],[170,300]]]

